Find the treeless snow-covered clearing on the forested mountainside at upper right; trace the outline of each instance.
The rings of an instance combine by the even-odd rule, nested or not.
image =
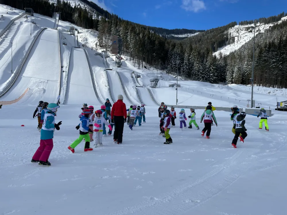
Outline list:
[[[270,24],[262,24],[262,23],[257,23],[256,24],[256,30],[255,30],[255,36],[258,33],[262,33],[264,32],[266,29],[270,28],[271,26],[280,23],[282,21],[287,20],[287,17],[282,17],[282,19],[278,22],[274,22],[274,23],[270,23]],[[251,40],[254,36],[254,30],[249,29],[250,27],[254,27],[254,24],[250,24],[250,25],[236,25],[233,28],[230,28],[228,30],[228,34],[231,35],[231,37],[235,37],[235,42],[221,47],[218,49],[217,52],[214,52],[215,55],[219,56],[220,52],[224,55],[224,54],[229,54],[230,52],[233,52],[235,50],[237,50],[238,48],[240,48],[241,46],[243,46],[245,43],[247,43],[249,40]]]

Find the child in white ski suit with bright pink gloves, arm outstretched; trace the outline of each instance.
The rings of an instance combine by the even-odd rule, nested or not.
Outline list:
[[[108,123],[108,121],[104,118],[104,116],[102,115],[102,111],[101,110],[96,110],[95,112],[96,116],[94,118],[94,122],[93,122],[93,130],[95,132],[94,136],[95,136],[95,140],[94,140],[94,146],[95,147],[100,147],[103,146],[102,144],[102,132],[103,132],[103,128],[104,128],[104,124],[106,124],[106,126],[108,126],[110,128],[110,131],[112,131],[112,126],[110,126],[110,124]]]

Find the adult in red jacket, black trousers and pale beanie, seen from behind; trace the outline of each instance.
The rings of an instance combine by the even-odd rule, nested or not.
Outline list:
[[[111,120],[115,123],[114,142],[121,144],[123,141],[124,124],[127,122],[127,108],[123,103],[123,96],[118,95],[118,101],[113,104],[110,112]]]

